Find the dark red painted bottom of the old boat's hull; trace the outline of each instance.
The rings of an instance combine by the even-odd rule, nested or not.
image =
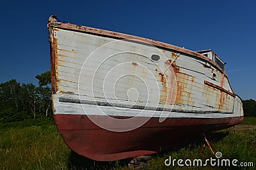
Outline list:
[[[95,116],[99,121],[104,116]],[[146,124],[127,132],[102,129],[86,115],[56,114],[54,119],[65,143],[71,150],[99,161],[120,160],[168,150],[180,146],[189,137],[218,131],[242,122],[230,118],[150,118]]]

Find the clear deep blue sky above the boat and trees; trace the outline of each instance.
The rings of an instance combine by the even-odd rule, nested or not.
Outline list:
[[[256,99],[256,1],[4,1],[0,82],[37,83],[50,70],[47,22],[62,21],[184,46],[227,62],[232,88]]]

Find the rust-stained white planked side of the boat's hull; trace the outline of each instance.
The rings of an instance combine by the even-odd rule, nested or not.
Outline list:
[[[156,50],[152,46],[141,45],[140,43],[122,40],[115,43],[116,39],[113,38],[57,28],[54,28],[54,38],[58,39],[58,44],[56,45],[58,47],[56,52],[58,53],[58,64],[56,66],[58,91],[54,95],[54,99],[57,97],[54,105],[60,105],[60,108],[63,107],[64,110],[66,103],[61,103],[63,104],[61,106],[58,102],[60,97],[99,102],[106,102],[107,98],[109,103],[124,102],[126,104],[133,104],[134,101],[129,101],[127,90],[134,88],[139,94],[138,101],[136,102],[141,106],[146,104],[147,106],[156,106],[157,104],[158,107],[173,108],[174,110],[227,111],[227,113],[234,113],[234,116],[243,115],[241,110],[239,112],[234,110],[234,104],[236,103],[237,107],[241,108],[241,101],[239,99],[235,103],[236,97],[224,94],[223,101],[221,102],[221,90],[205,85],[204,81],[206,80],[220,86],[222,74],[217,68],[205,67],[205,62],[202,59],[196,59],[195,57],[173,52],[172,50],[163,50],[161,48]],[[121,49],[122,47],[123,49]],[[100,48],[99,52],[102,53],[97,53],[97,48]],[[129,53],[121,53],[116,55],[116,57],[109,58],[113,53],[120,52]],[[143,53],[148,58],[140,57],[136,53]],[[159,55],[166,55],[166,57],[154,63],[150,60],[152,53],[160,53]],[[177,55],[179,57],[175,58]],[[159,73],[163,73],[169,67],[167,64],[164,64],[166,58],[175,60],[175,67],[179,68],[179,72],[175,73],[175,79],[173,78],[172,81],[167,82],[170,89],[164,89],[161,75],[159,75]],[[102,61],[106,63],[103,63],[104,66],[99,67]],[[139,68],[134,68],[136,66],[132,65],[132,62],[138,63],[137,67]],[[118,64],[121,64],[121,66],[115,67]],[[116,70],[112,70],[112,73],[109,73],[111,76],[106,75],[105,73],[108,73],[113,67]],[[146,72],[148,73],[143,73],[145,68],[147,68]],[[156,71],[159,68],[162,70]],[[216,74],[216,80],[211,78],[212,69]],[[120,79],[118,85],[114,84],[124,74],[134,74],[143,78],[143,81],[148,83],[147,88],[143,89],[141,81],[134,80],[129,76]],[[172,72],[167,71],[165,74],[170,76]],[[223,82],[223,89],[232,92],[226,76]],[[114,85],[116,85],[115,91],[113,90]],[[170,94],[171,90],[173,90],[173,96]],[[147,93],[148,91],[150,93]],[[167,100],[167,96],[173,98],[176,96],[176,98]],[[76,105],[80,107],[80,104],[74,104],[75,108]],[[56,113],[59,112],[58,107]],[[83,110],[77,111],[73,113],[84,114]],[[68,113],[68,111],[63,110],[60,110],[60,112]],[[112,114],[118,115],[122,113],[118,113],[118,111],[115,113],[114,111]],[[223,116],[226,117],[225,115]]]

